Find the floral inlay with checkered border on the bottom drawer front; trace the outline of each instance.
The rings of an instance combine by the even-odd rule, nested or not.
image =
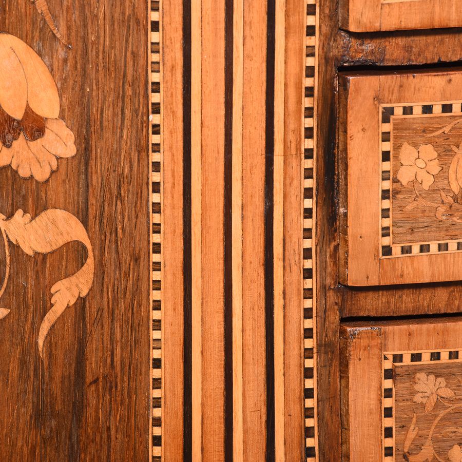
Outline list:
[[[460,460],[462,350],[383,354],[383,460]]]

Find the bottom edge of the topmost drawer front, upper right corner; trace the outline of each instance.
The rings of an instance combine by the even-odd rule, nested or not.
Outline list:
[[[355,32],[462,26],[460,0],[340,0],[340,27]]]

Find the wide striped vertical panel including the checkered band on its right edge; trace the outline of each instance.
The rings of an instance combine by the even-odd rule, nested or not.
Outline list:
[[[152,455],[161,445],[168,460],[316,460],[316,5],[161,10],[162,431]]]

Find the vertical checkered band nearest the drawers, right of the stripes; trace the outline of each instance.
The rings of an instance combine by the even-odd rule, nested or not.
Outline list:
[[[316,68],[316,0],[306,1],[305,113],[303,157],[303,326],[305,457],[316,460],[316,393],[313,304],[314,97]]]

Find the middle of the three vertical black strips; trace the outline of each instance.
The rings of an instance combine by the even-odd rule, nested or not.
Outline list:
[[[225,0],[224,367],[225,461],[233,462],[233,9]]]

